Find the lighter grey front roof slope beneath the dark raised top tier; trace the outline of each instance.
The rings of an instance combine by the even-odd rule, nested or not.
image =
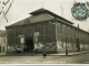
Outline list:
[[[13,23],[9,26],[16,26],[16,25],[23,25],[23,24],[30,24],[30,23],[36,23],[36,22],[41,22],[41,21],[48,21],[55,19],[53,16],[49,15],[48,13],[30,16],[27,19],[23,19],[17,23]]]

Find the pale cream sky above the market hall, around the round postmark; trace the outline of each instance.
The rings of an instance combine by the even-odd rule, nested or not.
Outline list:
[[[9,1],[6,6],[3,1]],[[86,2],[88,0],[0,0],[0,12],[1,10],[7,12],[10,3],[11,7],[7,13],[7,19],[3,18],[3,13],[0,14],[0,30],[6,30],[4,26],[11,25],[18,21],[21,21],[30,16],[30,12],[44,8],[65,19],[73,22],[75,26],[79,24],[80,29],[88,31],[89,30],[89,18],[86,21],[77,21],[72,18],[71,8],[75,2]],[[2,9],[3,7],[3,9]]]

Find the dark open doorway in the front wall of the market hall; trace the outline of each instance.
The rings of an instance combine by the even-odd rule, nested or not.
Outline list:
[[[24,52],[33,52],[33,37],[26,37]]]

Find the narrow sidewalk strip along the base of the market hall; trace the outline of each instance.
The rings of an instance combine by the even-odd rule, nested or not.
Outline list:
[[[80,55],[89,53],[89,51],[80,51],[80,52],[68,52],[68,56]],[[58,54],[47,54],[48,56],[66,56],[66,52]],[[0,53],[0,56],[42,56],[42,54],[31,54],[31,53],[19,53],[19,54],[6,54]]]

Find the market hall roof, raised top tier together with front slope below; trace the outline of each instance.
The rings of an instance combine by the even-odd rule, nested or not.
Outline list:
[[[36,10],[33,12],[30,13],[32,16],[30,18],[27,18],[27,19],[23,19],[17,23],[13,23],[9,26],[16,26],[16,25],[23,25],[23,24],[29,24],[29,23],[36,23],[36,22],[41,22],[41,21],[48,21],[48,20],[52,20],[52,19],[59,19],[59,20],[63,20],[66,23],[69,23],[69,24],[73,24],[72,22],[41,8],[39,10]],[[8,28],[8,26],[6,26]]]

